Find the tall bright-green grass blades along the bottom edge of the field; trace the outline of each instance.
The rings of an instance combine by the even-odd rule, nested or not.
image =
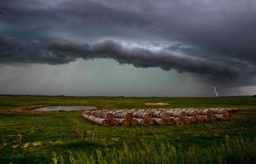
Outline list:
[[[208,148],[200,148],[197,145],[184,148],[179,144],[175,147],[169,143],[138,142],[134,147],[123,143],[119,149],[105,148],[95,150],[91,157],[83,156],[82,153],[69,153],[66,162],[70,163],[252,163],[256,157],[256,139],[254,141],[244,139],[230,140],[226,136],[225,143],[213,143]],[[53,154],[54,163],[64,163],[62,155]]]

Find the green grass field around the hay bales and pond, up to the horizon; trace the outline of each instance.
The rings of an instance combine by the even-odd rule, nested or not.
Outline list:
[[[81,112],[12,112],[37,105],[237,107],[231,121],[102,127]],[[0,96],[0,163],[256,163],[256,98]],[[18,136],[16,135],[18,134]]]

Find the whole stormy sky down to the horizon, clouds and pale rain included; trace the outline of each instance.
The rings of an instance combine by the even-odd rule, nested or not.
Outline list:
[[[254,0],[1,0],[0,93],[256,94]]]

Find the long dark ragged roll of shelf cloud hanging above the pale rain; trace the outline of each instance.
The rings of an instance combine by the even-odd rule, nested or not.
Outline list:
[[[164,49],[151,51],[145,48],[126,48],[111,40],[91,44],[51,41],[28,45],[1,37],[0,51],[2,63],[63,64],[77,58],[111,58],[120,64],[128,63],[136,67],[161,67],[166,71],[175,68],[178,71],[221,76],[239,75],[244,68],[242,65],[233,66],[228,62],[210,61],[207,58],[177,56]]]

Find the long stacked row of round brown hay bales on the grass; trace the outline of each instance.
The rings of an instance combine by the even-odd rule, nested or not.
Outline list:
[[[184,125],[202,121],[226,121],[236,108],[114,109],[85,111],[82,116],[99,125]]]

